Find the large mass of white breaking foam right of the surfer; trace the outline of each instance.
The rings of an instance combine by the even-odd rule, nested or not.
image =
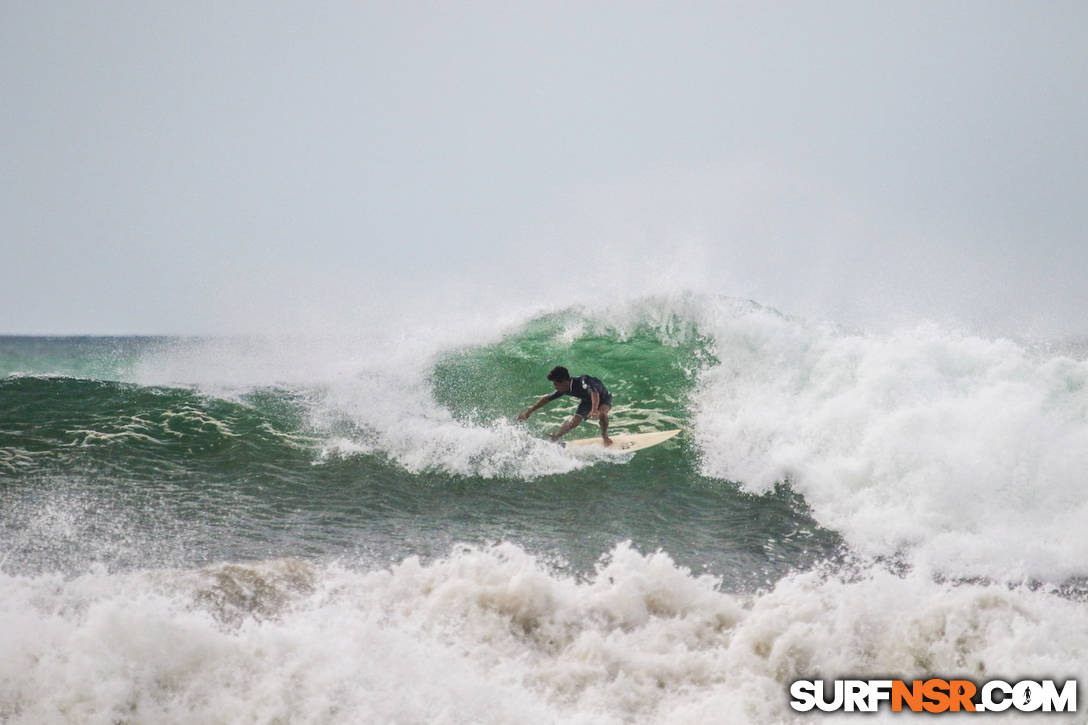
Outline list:
[[[855,552],[953,576],[1088,574],[1088,362],[926,324],[707,320],[702,469],[788,480]]]

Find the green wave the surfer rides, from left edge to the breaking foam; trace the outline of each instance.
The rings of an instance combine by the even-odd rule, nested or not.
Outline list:
[[[608,386],[613,431],[689,428],[696,378],[717,365],[694,320],[572,309],[411,369],[358,364],[225,398],[30,377],[74,372],[85,357],[104,370],[116,345],[17,341],[9,357],[24,356],[13,364],[23,374],[0,379],[0,534],[9,542],[0,568],[77,574],[95,563],[279,556],[385,565],[457,543],[515,541],[591,573],[602,552],[631,541],[737,587],[763,586],[838,546],[789,491],[757,497],[703,477],[691,435],[634,457],[578,458],[539,440],[572,413],[569,397],[512,422],[551,392],[545,376],[564,365]],[[25,361],[26,347],[38,362]],[[177,355],[169,376],[193,365],[213,381],[220,368],[227,380],[236,371],[218,347],[201,357],[168,341],[152,357],[161,349]],[[589,422],[573,435],[595,432]]]

